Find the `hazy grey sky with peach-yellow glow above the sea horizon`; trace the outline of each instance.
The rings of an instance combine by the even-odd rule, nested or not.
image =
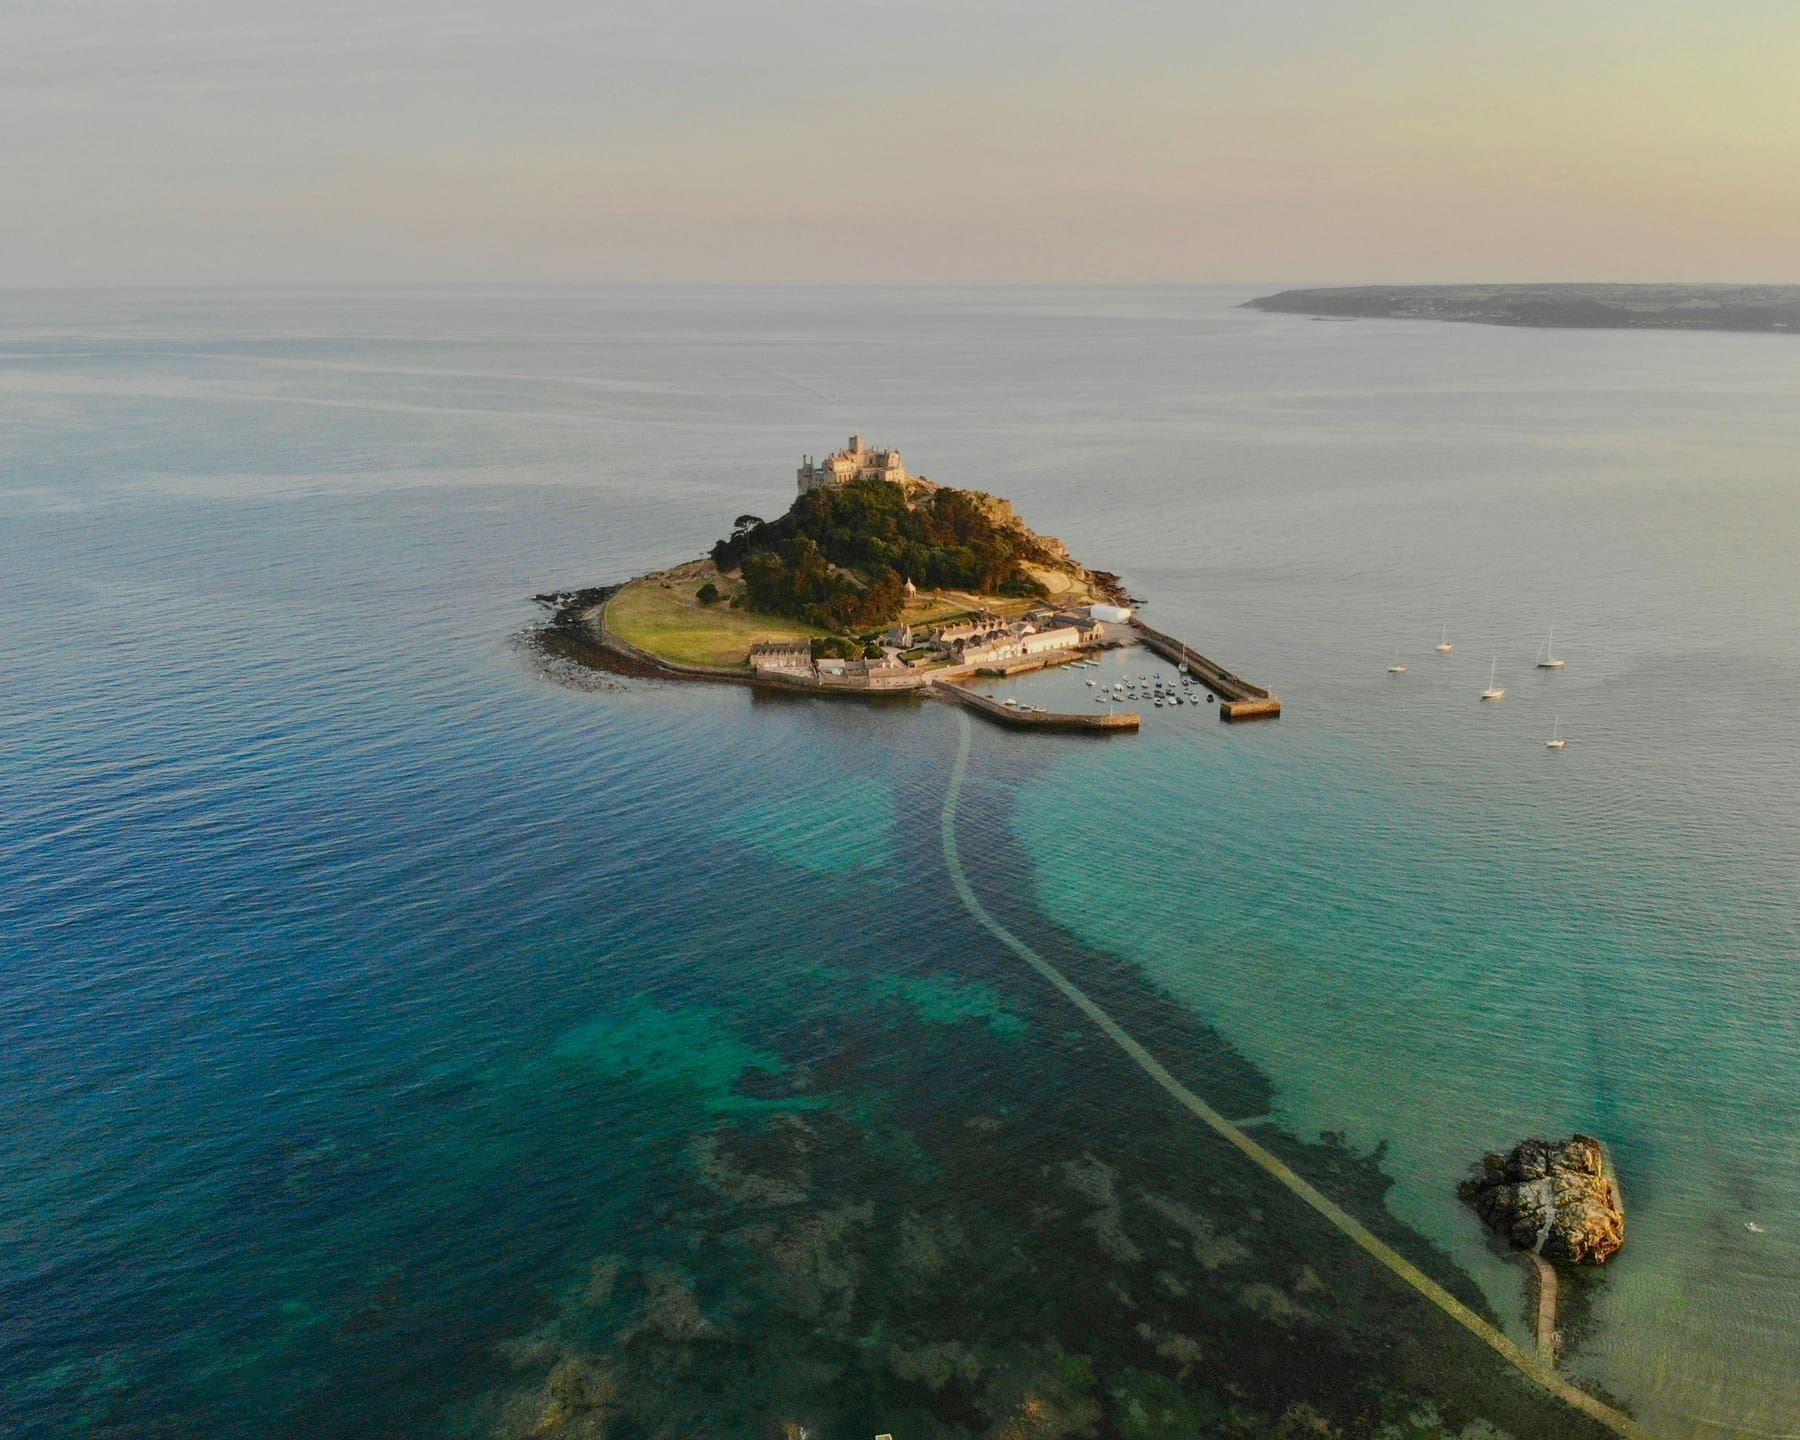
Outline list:
[[[1800,0],[0,0],[0,286],[1800,281]]]

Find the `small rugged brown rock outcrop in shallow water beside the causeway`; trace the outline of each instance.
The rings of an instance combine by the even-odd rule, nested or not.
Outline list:
[[[1591,1136],[1521,1139],[1487,1154],[1456,1193],[1517,1249],[1604,1265],[1625,1244],[1625,1211]]]

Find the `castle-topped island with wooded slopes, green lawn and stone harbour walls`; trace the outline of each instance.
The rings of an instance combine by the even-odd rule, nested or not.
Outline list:
[[[787,513],[738,515],[706,556],[536,596],[551,610],[538,648],[621,675],[940,698],[1019,729],[1118,733],[1141,716],[1004,706],[965,682],[1143,644],[1224,720],[1282,711],[1267,689],[1147,626],[1116,574],[1076,562],[1004,499],[913,475],[898,450],[862,436],[805,455],[796,488]]]

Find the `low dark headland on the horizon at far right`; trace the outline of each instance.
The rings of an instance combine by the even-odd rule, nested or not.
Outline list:
[[[1355,284],[1247,304],[1332,319],[1800,333],[1800,284]]]

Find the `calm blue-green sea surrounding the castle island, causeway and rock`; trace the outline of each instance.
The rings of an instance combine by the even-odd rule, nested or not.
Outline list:
[[[0,1433],[1588,1433],[970,922],[958,711],[536,655],[857,430],[1285,704],[977,725],[983,902],[1521,1343],[1606,1138],[1564,1373],[1800,1435],[1800,344],[1249,293],[0,297]]]

